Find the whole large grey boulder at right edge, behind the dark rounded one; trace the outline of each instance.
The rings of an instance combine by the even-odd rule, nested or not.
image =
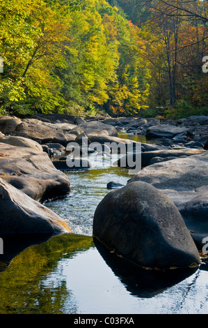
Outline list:
[[[208,152],[155,163],[138,172],[129,184],[143,181],[162,191],[179,209],[187,227],[208,235]],[[201,238],[202,241],[203,238]]]

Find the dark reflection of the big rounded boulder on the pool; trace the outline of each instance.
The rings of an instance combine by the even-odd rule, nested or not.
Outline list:
[[[154,297],[197,271],[197,269],[190,268],[175,269],[168,272],[146,270],[128,260],[118,258],[114,253],[110,253],[97,239],[94,238],[93,242],[115,276],[118,276],[131,295],[136,297]]]

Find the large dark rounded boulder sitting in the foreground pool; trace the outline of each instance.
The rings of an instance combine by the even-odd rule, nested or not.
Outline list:
[[[175,204],[144,182],[127,184],[104,197],[95,210],[93,237],[146,269],[200,264],[198,250]]]

